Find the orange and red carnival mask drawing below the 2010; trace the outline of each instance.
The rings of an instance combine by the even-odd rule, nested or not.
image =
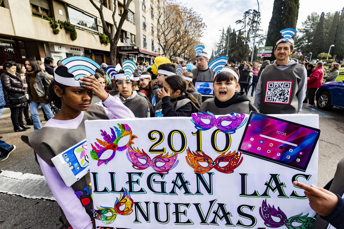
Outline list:
[[[204,152],[191,153],[190,148],[186,150],[186,153],[186,162],[194,169],[196,173],[206,173],[213,168],[222,173],[233,173],[234,169],[236,169],[243,161],[243,158],[240,159],[241,153],[235,151],[233,153],[229,151],[227,154],[222,153],[215,160],[211,159],[211,157]],[[204,167],[199,162],[207,162],[208,166]],[[228,162],[228,164],[221,167],[219,165],[220,162]]]

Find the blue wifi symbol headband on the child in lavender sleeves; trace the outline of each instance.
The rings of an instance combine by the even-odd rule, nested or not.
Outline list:
[[[82,86],[79,83],[79,78],[87,76],[92,76],[96,73],[96,69],[100,69],[100,65],[97,64],[94,60],[84,57],[84,56],[70,56],[61,61],[61,65],[65,66],[68,69],[68,73],[71,75],[60,76],[55,73],[54,69],[54,79],[56,82],[59,82],[66,86],[71,87],[80,87]]]

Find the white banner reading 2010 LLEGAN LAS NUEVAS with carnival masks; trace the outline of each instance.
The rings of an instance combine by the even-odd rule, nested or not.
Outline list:
[[[319,126],[318,115],[274,116]],[[317,184],[318,145],[306,172],[252,157],[237,152],[248,115],[229,117],[86,121],[97,228],[310,228],[292,182]]]

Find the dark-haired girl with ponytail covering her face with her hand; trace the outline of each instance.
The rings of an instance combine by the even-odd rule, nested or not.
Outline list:
[[[191,117],[192,113],[199,111],[200,104],[186,92],[186,82],[181,76],[165,78],[163,86],[158,91],[161,101],[155,105],[155,117]]]

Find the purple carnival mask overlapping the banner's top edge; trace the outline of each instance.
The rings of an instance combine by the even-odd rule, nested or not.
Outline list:
[[[247,121],[247,118],[245,118],[245,114],[237,113],[231,113],[228,116],[220,116],[218,118],[216,118],[215,115],[211,112],[198,112],[191,114],[191,116],[191,121],[195,124],[196,129],[207,130],[216,126],[219,130],[226,134],[234,134],[235,131],[242,127]],[[202,119],[208,119],[210,123],[206,124],[202,121]],[[223,121],[229,121],[231,123],[227,126],[223,126]]]

